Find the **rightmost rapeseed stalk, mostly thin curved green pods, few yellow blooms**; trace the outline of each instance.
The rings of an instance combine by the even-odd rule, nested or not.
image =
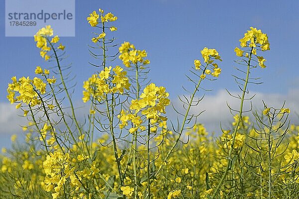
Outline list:
[[[286,168],[292,165],[288,162],[288,155],[284,156],[286,161],[283,161],[281,165],[278,164],[280,162],[278,160],[282,159],[283,152],[287,150],[282,143],[289,132],[290,121],[288,122],[288,116],[291,111],[289,108],[284,108],[284,105],[282,108],[274,108],[268,107],[264,103],[264,107],[262,116],[257,112],[254,113],[256,125],[252,133],[248,135],[250,139],[247,143],[250,146],[247,150],[248,153],[259,162],[258,164],[257,162],[247,162],[247,158],[244,158],[244,161],[247,162],[248,170],[252,172],[252,178],[260,178],[260,196],[265,196],[265,198],[267,196],[268,199],[272,199],[276,197],[275,193],[284,189],[278,185],[280,183],[277,181],[280,181],[280,178],[283,179],[282,184],[285,186],[292,184],[292,180],[291,182],[284,181],[286,180],[285,176],[290,171]]]

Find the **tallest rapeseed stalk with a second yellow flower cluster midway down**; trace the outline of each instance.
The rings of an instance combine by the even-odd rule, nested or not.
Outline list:
[[[117,20],[117,16],[114,16],[114,14],[112,14],[111,12],[104,15],[104,10],[99,9],[99,14],[96,11],[93,11],[90,16],[87,17],[87,20],[92,27],[98,27],[101,29],[101,33],[99,33],[98,36],[93,37],[92,42],[97,45],[97,47],[95,47],[96,49],[98,48],[102,50],[103,54],[96,55],[95,53],[91,51],[90,52],[95,57],[102,57],[102,63],[100,65],[92,65],[97,67],[102,66],[103,70],[99,73],[99,76],[93,75],[92,78],[84,83],[83,87],[85,88],[85,91],[83,92],[83,101],[86,102],[91,98],[95,110],[108,118],[108,124],[103,124],[100,120],[97,120],[100,126],[96,128],[99,130],[102,128],[103,131],[108,128],[111,133],[114,155],[117,162],[121,186],[123,187],[125,177],[121,164],[122,156],[119,156],[119,149],[117,146],[114,118],[115,115],[117,115],[115,112],[116,104],[124,103],[124,101],[117,102],[117,100],[120,101],[120,96],[127,95],[126,91],[130,89],[131,84],[129,83],[129,79],[126,77],[127,72],[123,71],[123,68],[119,66],[116,66],[114,69],[112,69],[111,66],[107,67],[107,58],[115,57],[115,55],[107,55],[107,44],[112,43],[114,41],[114,38],[107,39],[106,29],[110,29],[110,31],[116,31],[117,28],[114,26],[107,27],[106,23]],[[98,26],[98,24],[100,24],[100,26]],[[113,72],[111,72],[111,69]],[[105,111],[100,111],[97,107],[97,105],[100,105],[102,103],[106,104]],[[92,112],[92,114],[94,115],[95,112]],[[93,138],[91,137],[91,142],[92,139]]]

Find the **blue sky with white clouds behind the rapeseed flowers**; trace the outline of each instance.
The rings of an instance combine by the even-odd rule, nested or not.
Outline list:
[[[0,148],[10,145],[11,134],[23,134],[14,105],[6,100],[7,83],[16,76],[34,77],[36,66],[50,67],[39,56],[32,37],[5,37],[4,0],[0,0]],[[94,59],[89,55],[92,32],[86,17],[93,10],[104,9],[118,16],[113,23],[118,31],[113,33],[117,43],[129,41],[137,49],[145,49],[150,60],[150,78],[158,86],[164,86],[170,99],[177,105],[178,95],[185,92],[182,85],[190,84],[184,74],[193,67],[194,59],[201,59],[200,50],[215,48],[223,61],[222,73],[214,82],[204,82],[203,87],[212,89],[192,111],[206,110],[199,122],[209,132],[219,131],[219,124],[231,121],[226,101],[238,107],[225,92],[239,92],[231,74],[237,74],[234,48],[250,26],[268,34],[270,51],[262,52],[267,68],[257,68],[253,77],[261,77],[261,85],[250,85],[256,108],[268,105],[279,107],[286,100],[291,108],[292,121],[298,123],[299,72],[298,72],[298,0],[76,0],[75,37],[61,37],[60,42],[68,55],[65,64],[72,63],[72,74],[77,83],[73,99],[82,104],[82,83],[96,71],[88,64]],[[67,27],[66,27],[67,28]],[[55,30],[54,30],[55,35]],[[118,60],[115,65],[121,65]],[[201,94],[203,92],[201,91]],[[216,132],[217,133],[217,132]]]

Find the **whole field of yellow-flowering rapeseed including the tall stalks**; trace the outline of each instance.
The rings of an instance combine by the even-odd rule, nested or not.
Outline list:
[[[219,137],[209,134],[190,109],[200,105],[206,81],[221,78],[221,55],[203,47],[186,71],[194,90],[171,106],[163,85],[149,81],[146,50],[130,42],[116,45],[118,17],[99,9],[87,17],[93,66],[99,71],[83,82],[88,116],[80,121],[63,41],[50,25],[35,35],[40,56],[51,68],[37,66],[36,77],[12,77],[7,99],[23,111],[28,125],[24,144],[2,149],[1,199],[298,199],[299,126],[290,109],[272,107],[243,115],[259,84],[253,70],[267,70],[266,33],[254,27],[236,47],[239,109],[229,106],[234,122]],[[241,33],[240,33],[241,34]],[[36,53],[38,53],[36,51]],[[122,66],[114,64],[116,59]],[[80,91],[81,92],[81,91]],[[183,111],[179,111],[182,109]],[[15,137],[12,137],[14,142]]]

